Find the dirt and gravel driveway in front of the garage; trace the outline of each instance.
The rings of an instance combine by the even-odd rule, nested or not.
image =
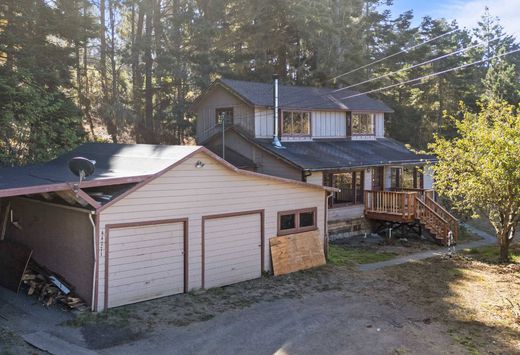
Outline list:
[[[363,273],[327,265],[99,315],[51,317],[43,330],[102,354],[520,353],[520,265],[474,257]],[[9,299],[2,302],[8,309]],[[23,333],[16,322],[0,320],[0,328]]]

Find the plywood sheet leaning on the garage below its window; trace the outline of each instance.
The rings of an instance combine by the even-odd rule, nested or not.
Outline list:
[[[310,269],[325,264],[319,231],[271,238],[271,258],[275,275]]]

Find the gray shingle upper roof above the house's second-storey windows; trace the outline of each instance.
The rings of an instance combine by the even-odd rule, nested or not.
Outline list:
[[[255,106],[273,105],[272,83],[258,83],[231,79],[220,79],[218,82],[231,89]],[[279,103],[281,108],[292,109],[321,109],[344,111],[377,111],[393,112],[385,103],[367,95],[360,95],[348,99],[344,97],[359,94],[354,90],[334,88],[316,88],[310,86],[279,86]]]

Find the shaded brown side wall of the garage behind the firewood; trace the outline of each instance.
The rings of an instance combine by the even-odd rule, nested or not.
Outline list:
[[[63,276],[90,304],[94,247],[88,214],[16,198],[11,208],[22,229],[10,224],[7,239],[32,248],[37,263]]]

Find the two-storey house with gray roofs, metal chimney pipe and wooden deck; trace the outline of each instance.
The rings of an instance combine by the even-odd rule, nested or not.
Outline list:
[[[415,209],[415,194],[419,205],[440,211],[422,193],[433,187],[423,168],[434,157],[386,137],[385,120],[393,110],[367,95],[278,85],[276,78],[273,83],[220,79],[191,110],[197,115],[197,143],[230,163],[340,189],[329,201],[333,236],[369,232],[378,221],[416,221],[420,211],[407,211]],[[444,229],[433,234],[446,237]]]

